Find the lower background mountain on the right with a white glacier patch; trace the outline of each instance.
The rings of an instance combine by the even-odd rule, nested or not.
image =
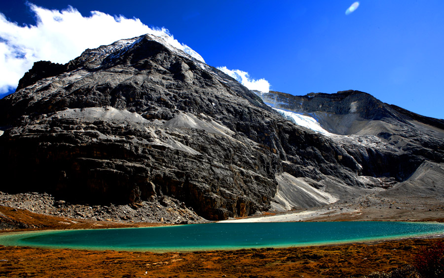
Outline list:
[[[331,132],[327,136],[362,166],[363,176],[376,177],[383,188],[390,189],[381,196],[394,198],[392,192],[402,192],[403,196],[407,192],[417,196],[441,192],[435,184],[443,182],[441,172],[428,174],[433,176],[433,183],[418,176],[424,175],[424,169],[430,172],[430,163],[437,163],[435,168],[443,166],[444,120],[382,103],[360,91],[306,96],[273,91],[257,94],[272,107],[317,119]]]

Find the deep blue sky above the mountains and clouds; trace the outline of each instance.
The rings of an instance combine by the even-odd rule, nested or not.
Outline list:
[[[444,118],[443,0],[362,0],[349,15],[353,0],[30,2],[165,27],[207,64],[264,78],[271,90],[304,95],[356,89]],[[0,1],[0,12],[35,24],[24,1]]]

